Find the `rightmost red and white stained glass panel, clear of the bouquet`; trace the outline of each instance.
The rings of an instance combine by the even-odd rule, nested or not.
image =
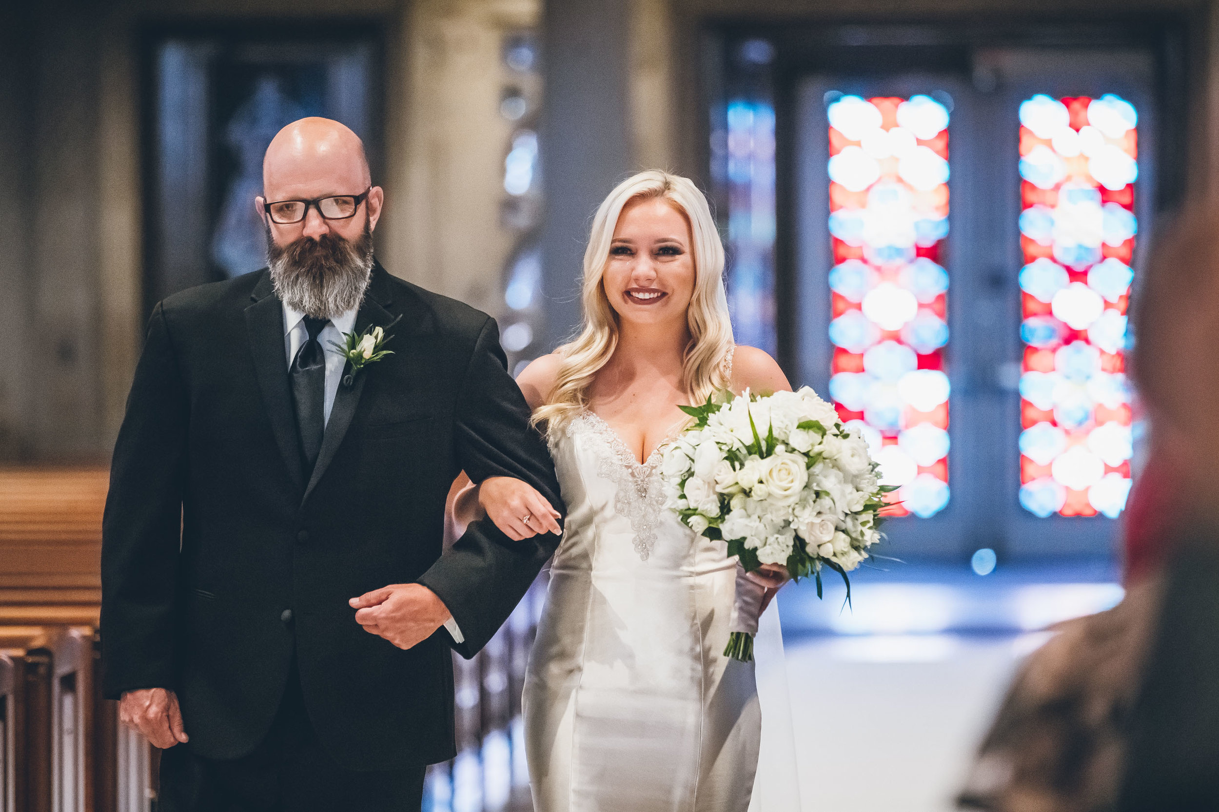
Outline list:
[[[1020,105],[1020,505],[1042,518],[1117,518],[1130,490],[1137,122],[1113,94]]]

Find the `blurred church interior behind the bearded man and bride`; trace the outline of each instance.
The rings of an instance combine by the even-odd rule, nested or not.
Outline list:
[[[1123,595],[1146,430],[1126,308],[1159,215],[1219,180],[1215,12],[7,0],[0,810],[156,808],[156,753],[96,688],[110,450],[152,305],[263,265],[262,152],[311,115],[364,139],[384,266],[495,316],[517,371],[578,321],[617,180],[662,167],[708,193],[737,341],[833,399],[901,486],[900,561],[861,569],[851,607],[831,584],[779,599],[805,806],[952,808],[1042,630]],[[456,660],[461,752],[425,810],[531,808],[544,597]]]

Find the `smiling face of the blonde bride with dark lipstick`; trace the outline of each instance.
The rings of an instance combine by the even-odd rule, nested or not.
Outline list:
[[[663,198],[623,206],[601,284],[624,322],[680,319],[694,297],[692,237],[685,215]]]

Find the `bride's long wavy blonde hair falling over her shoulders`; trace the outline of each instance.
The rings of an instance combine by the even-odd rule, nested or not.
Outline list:
[[[555,350],[560,356],[558,376],[546,404],[534,412],[535,424],[556,429],[588,406],[589,385],[618,346],[618,313],[602,284],[618,217],[628,204],[657,198],[685,215],[694,238],[694,297],[686,310],[690,343],[681,367],[686,395],[690,402],[701,404],[712,393],[729,388],[725,360],[734,346],[733,326],[724,293],[724,245],[716,221],[707,198],[689,178],[650,169],[619,183],[592,218],[584,251],[584,322],[574,339]]]

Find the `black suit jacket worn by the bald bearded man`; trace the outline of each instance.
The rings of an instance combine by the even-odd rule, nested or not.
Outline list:
[[[441,555],[462,469],[474,482],[517,477],[562,502],[495,321],[378,265],[356,330],[399,316],[394,355],[339,388],[306,480],[268,272],[152,311],[102,528],[105,690],[176,690],[204,757],[258,744],[294,650],[310,717],[340,763],[452,757],[451,638],[441,629],[403,651],[364,632],[347,600],[422,583],[471,657],[558,541],[512,541],[482,521]]]

